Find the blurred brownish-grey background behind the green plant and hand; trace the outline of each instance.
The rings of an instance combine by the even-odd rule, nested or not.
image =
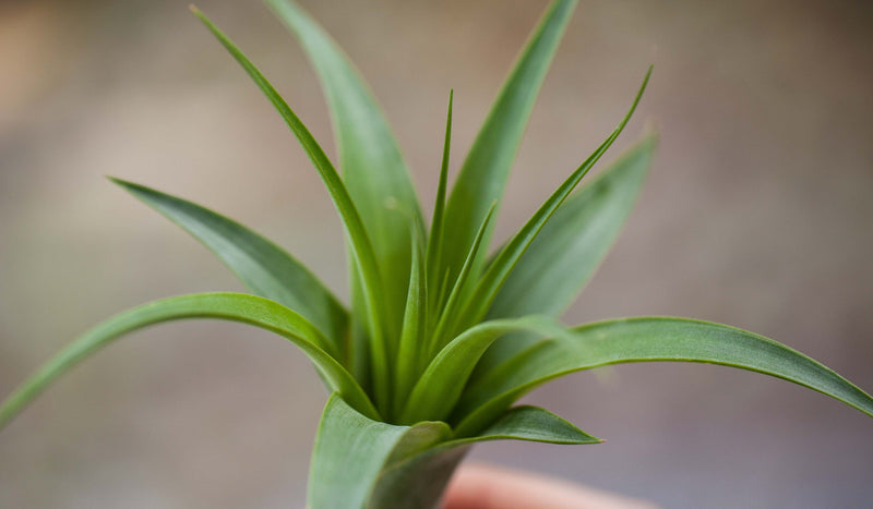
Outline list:
[[[275,239],[345,295],[316,173],[188,0],[0,2],[0,395],[108,315],[240,290],[112,174]],[[370,81],[430,209],[455,88],[456,170],[545,0],[302,0]],[[260,2],[200,0],[330,154],[300,49]],[[660,149],[567,323],[680,315],[773,337],[873,390],[873,3],[584,1],[500,218],[506,235],[653,82]],[[304,356],[214,322],[103,351],[0,433],[0,507],[302,507],[325,392]],[[723,367],[619,366],[526,398],[607,438],[477,446],[667,507],[873,505],[873,421]]]

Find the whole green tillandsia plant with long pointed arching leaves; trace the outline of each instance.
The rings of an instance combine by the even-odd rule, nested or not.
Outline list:
[[[618,126],[522,229],[489,256],[512,160],[575,7],[554,0],[510,73],[447,192],[452,95],[433,218],[426,226],[406,165],[360,75],[289,0],[271,8],[302,44],[333,114],[339,169],[261,72],[200,11],[194,14],[275,106],[312,160],[345,226],[350,308],[285,251],[186,199],[113,181],[211,249],[248,293],[155,301],[85,332],[0,407],[8,423],[63,372],[134,329],[183,318],[241,322],[285,337],[331,396],[313,450],[310,507],[431,507],[470,445],[498,439],[600,440],[553,413],[513,407],[555,377],[608,364],[721,364],[809,387],[873,416],[873,399],[816,361],[725,325],[637,317],[566,328],[575,299],[630,214],[656,145],[645,135],[574,192]]]

